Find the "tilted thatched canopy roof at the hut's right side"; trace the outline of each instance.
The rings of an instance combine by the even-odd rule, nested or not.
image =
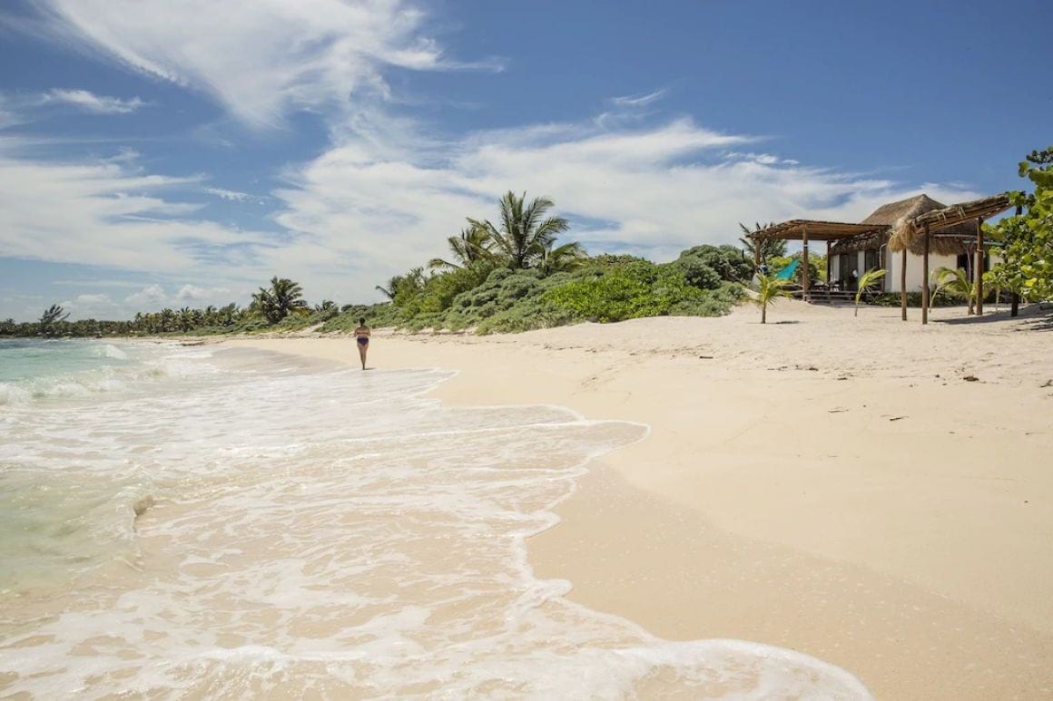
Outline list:
[[[922,196],[925,197],[925,196]],[[928,198],[926,198],[928,199]],[[930,200],[938,204],[935,200]],[[987,219],[1012,206],[1009,195],[992,195],[978,200],[959,202],[951,206],[926,208],[910,218],[896,222],[889,248],[912,253],[925,251],[925,231],[929,226],[929,251],[933,253],[965,253],[965,244],[976,238],[976,220]]]

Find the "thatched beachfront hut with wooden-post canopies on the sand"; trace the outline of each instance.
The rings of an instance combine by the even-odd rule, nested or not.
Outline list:
[[[991,259],[981,225],[1009,207],[1005,194],[951,206],[917,195],[882,204],[859,223],[793,219],[749,236],[754,241],[801,241],[801,296],[806,300],[813,300],[813,292],[818,291],[824,299],[831,294],[847,295],[855,289],[865,271],[880,267],[887,271],[881,291],[899,293],[902,318],[907,319],[907,293],[921,292],[921,322],[928,323],[930,289],[926,282],[940,266],[969,273],[981,300],[976,313],[982,314],[982,272],[990,269]],[[827,243],[828,283],[821,286],[814,286],[808,278],[809,242],[816,240]]]

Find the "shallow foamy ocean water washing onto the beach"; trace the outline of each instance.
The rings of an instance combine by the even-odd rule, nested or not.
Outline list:
[[[451,376],[0,340],[0,696],[870,698],[535,577],[528,538],[647,427],[444,407]]]

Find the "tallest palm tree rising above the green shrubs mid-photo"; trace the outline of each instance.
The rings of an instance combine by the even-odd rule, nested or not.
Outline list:
[[[525,199],[525,193],[521,197],[511,191],[505,193],[500,200],[500,227],[489,220],[468,220],[473,228],[485,232],[495,255],[513,269],[535,267],[556,237],[571,227],[562,217],[545,217],[555,206],[548,197],[535,198],[529,204]]]

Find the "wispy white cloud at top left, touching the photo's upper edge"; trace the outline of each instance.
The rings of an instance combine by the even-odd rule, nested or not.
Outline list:
[[[281,123],[291,108],[388,95],[386,66],[497,67],[446,60],[421,35],[425,15],[400,0],[42,0],[63,41],[203,91],[241,121]]]

